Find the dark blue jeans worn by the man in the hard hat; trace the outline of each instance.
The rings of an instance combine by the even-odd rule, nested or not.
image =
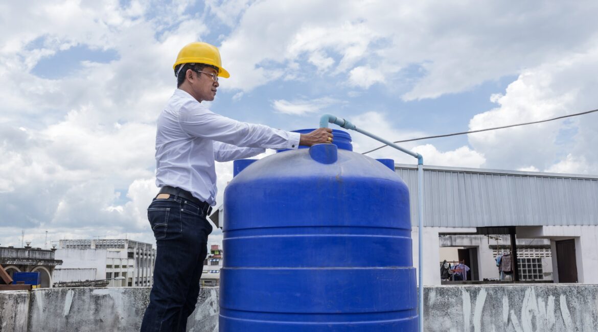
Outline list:
[[[156,240],[154,285],[141,331],[185,331],[195,310],[212,226],[197,204],[154,199],[148,219]]]

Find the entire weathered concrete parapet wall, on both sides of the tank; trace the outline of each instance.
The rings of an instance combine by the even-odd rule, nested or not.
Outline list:
[[[138,331],[148,287],[0,291],[0,331]],[[598,331],[598,285],[425,287],[425,331]],[[204,287],[187,331],[218,331]]]

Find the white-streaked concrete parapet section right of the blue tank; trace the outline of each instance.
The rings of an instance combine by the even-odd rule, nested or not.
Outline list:
[[[425,331],[598,331],[598,285],[425,287]]]

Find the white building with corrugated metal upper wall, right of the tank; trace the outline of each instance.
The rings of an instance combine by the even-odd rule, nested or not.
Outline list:
[[[494,259],[505,251],[514,262],[509,282],[598,284],[598,176],[423,169],[424,285],[441,284],[440,262],[451,257],[472,269],[471,282],[500,282]],[[417,167],[395,164],[395,171],[410,192],[417,268]],[[210,219],[222,228],[224,214],[221,205]]]

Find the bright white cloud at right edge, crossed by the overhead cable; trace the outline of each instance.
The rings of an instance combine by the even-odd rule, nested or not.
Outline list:
[[[596,108],[598,49],[524,70],[498,107],[469,122],[470,130],[538,121]],[[575,83],[573,83],[575,82]],[[469,134],[493,168],[598,173],[596,115]]]

